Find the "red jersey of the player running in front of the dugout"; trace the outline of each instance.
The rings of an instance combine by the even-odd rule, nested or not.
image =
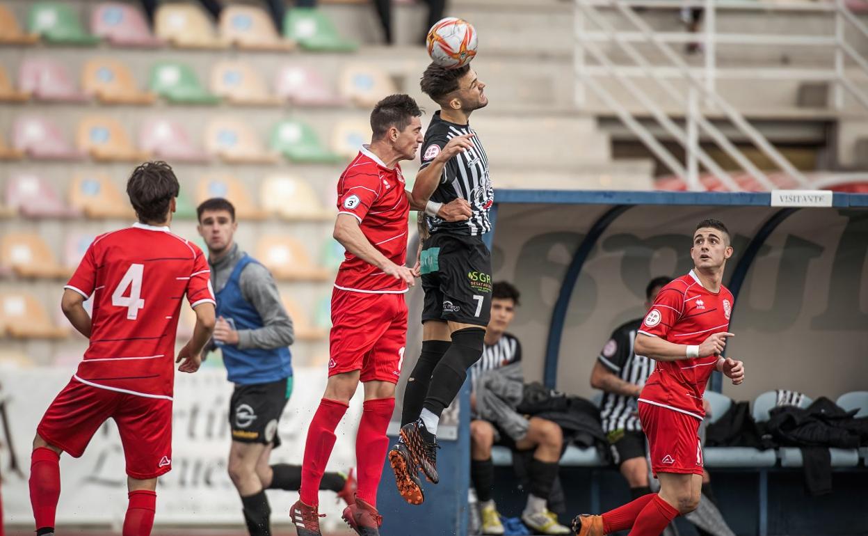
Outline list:
[[[722,285],[717,293],[707,290],[691,270],[661,289],[639,333],[674,344],[699,345],[711,334],[726,332],[732,312],[733,294]],[[639,400],[702,419],[702,394],[718,359],[712,355],[657,361]]]

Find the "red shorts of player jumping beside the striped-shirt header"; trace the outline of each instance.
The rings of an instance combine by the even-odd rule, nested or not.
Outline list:
[[[362,381],[398,383],[406,343],[404,294],[332,291],[329,376],[361,370]]]

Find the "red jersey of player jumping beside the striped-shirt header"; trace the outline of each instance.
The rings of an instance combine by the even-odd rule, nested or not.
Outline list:
[[[363,146],[338,181],[339,214],[358,220],[368,242],[398,266],[407,260],[407,216],[410,201],[404,192],[404,175],[395,164],[389,169]],[[368,264],[349,251],[338,269],[334,286],[372,294],[407,292],[404,281]]]

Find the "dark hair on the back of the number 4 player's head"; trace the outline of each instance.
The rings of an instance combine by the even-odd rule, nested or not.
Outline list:
[[[169,202],[178,196],[181,185],[166,162],[145,162],[129,175],[127,195],[142,223],[164,222]]]

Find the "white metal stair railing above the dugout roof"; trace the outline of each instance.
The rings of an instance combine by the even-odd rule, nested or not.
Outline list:
[[[701,8],[705,10],[703,30],[699,33],[655,31],[635,8],[648,10],[673,10]],[[792,10],[813,11],[832,14],[834,17],[834,34],[829,36],[799,36],[799,35],[757,35],[733,34],[717,31],[718,10]],[[605,10],[605,12],[604,12]],[[619,22],[628,23],[629,30],[616,29],[610,22],[611,15],[619,16]],[[753,143],[774,165],[791,177],[802,187],[809,187],[805,174],[796,169],[778,149],[776,149],[758,129],[746,120],[739,109],[727,102],[717,88],[721,78],[753,78],[753,79],[790,79],[799,81],[825,81],[833,83],[833,104],[841,110],[845,106],[845,92],[855,101],[868,109],[868,93],[859,87],[857,82],[848,75],[848,64],[854,65],[861,75],[868,75],[868,60],[848,41],[847,25],[854,27],[860,36],[868,39],[865,25],[853,15],[844,0],[829,3],[747,3],[727,0],[575,0],[575,103],[581,108],[585,101],[585,90],[589,89],[602,103],[611,109],[621,119],[628,129],[632,130],[641,142],[674,174],[685,177],[688,188],[703,189],[699,180],[700,164],[708,172],[715,175],[727,189],[741,190],[733,175],[720,167],[705,149],[700,146],[700,136],[708,136],[740,166],[740,170],[752,176],[766,189],[774,189],[768,175],[751,162],[735,144],[706,117],[704,109],[713,109],[722,113],[741,135]],[[623,26],[623,24],[620,24]],[[704,62],[702,67],[687,64],[674,49],[673,43],[690,43],[700,41],[704,46]],[[823,48],[833,52],[829,69],[804,68],[735,68],[721,69],[717,65],[716,45],[721,44],[753,44],[756,46],[807,46]],[[602,44],[615,45],[621,53],[628,56],[632,64],[615,63],[602,48]],[[640,47],[652,48],[663,60],[649,61]],[[594,63],[589,63],[593,59]],[[648,111],[661,127],[681,144],[686,158],[681,162],[671,151],[666,149],[642,122],[636,118],[628,106],[620,103],[601,83],[600,78],[606,76],[614,79],[626,89],[636,103]],[[643,87],[638,77],[653,81],[663,93],[674,101],[676,107],[681,107],[685,116],[685,126],[682,128],[674,121],[661,103]],[[679,89],[675,82],[685,86]],[[863,84],[864,85],[864,84]],[[681,114],[679,114],[681,115]]]

